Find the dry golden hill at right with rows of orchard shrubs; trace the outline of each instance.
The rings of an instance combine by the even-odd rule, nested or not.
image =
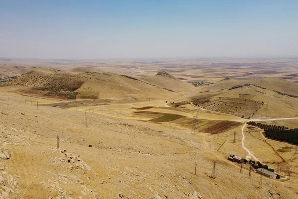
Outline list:
[[[267,84],[270,85],[269,88],[264,87]],[[190,95],[190,99],[202,108],[244,118],[291,117],[298,115],[296,91],[298,91],[297,84],[275,78],[270,81],[226,79],[202,88],[198,94]]]

